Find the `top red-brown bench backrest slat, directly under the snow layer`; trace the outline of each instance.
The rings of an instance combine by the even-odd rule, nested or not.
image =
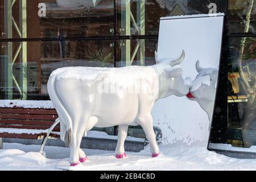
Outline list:
[[[55,109],[22,109],[20,107],[14,108],[3,108],[0,107],[0,113],[12,113],[12,114],[42,114],[50,115],[57,114]]]

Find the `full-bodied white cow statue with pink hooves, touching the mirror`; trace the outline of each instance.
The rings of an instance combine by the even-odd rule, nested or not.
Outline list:
[[[141,125],[152,157],[159,155],[152,107],[160,98],[187,95],[189,87],[179,67],[184,50],[177,59],[160,59],[157,53],[155,56],[156,64],[147,67],[66,67],[51,73],[47,89],[59,115],[60,138],[71,148],[71,166],[88,159],[80,143],[93,127],[118,125],[115,154],[117,158],[125,158],[128,126]]]

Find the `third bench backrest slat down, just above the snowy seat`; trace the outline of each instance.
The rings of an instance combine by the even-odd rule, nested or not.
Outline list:
[[[0,119],[0,124],[10,124],[10,125],[42,125],[51,127],[52,121],[44,120],[25,120],[25,119]],[[1,125],[0,125],[1,127]]]

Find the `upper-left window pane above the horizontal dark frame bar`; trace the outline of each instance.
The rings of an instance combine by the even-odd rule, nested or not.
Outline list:
[[[113,0],[19,0],[12,6],[11,1],[0,0],[2,17],[0,36],[1,38],[113,36],[113,2]],[[25,8],[20,10],[22,3]],[[4,9],[7,6],[9,8]],[[24,14],[20,15],[20,11]],[[19,32],[23,32],[26,36],[20,36]]]

